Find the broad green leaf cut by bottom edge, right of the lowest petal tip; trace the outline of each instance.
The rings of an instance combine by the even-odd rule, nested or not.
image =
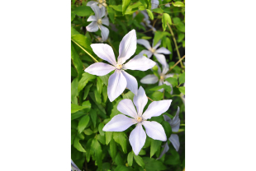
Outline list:
[[[166,170],[166,166],[157,159],[150,159],[149,157],[143,158],[145,162],[146,171],[155,171],[155,170]]]

